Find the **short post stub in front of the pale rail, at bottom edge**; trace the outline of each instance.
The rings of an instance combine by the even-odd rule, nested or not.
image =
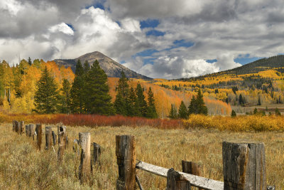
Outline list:
[[[190,190],[190,181],[171,168],[167,175],[167,190]]]

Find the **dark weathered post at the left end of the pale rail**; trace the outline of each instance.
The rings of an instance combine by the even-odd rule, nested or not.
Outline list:
[[[116,135],[116,158],[119,165],[119,178],[116,189],[136,189],[136,154],[135,139],[130,135]]]

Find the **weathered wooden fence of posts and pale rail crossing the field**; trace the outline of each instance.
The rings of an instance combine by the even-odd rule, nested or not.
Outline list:
[[[24,134],[24,122],[13,121],[13,131]],[[36,147],[40,150],[42,144],[42,125],[26,125],[26,136],[36,139]],[[51,127],[45,127],[45,149],[54,149],[57,143],[56,134]],[[58,126],[58,162],[62,162],[64,150],[68,146],[65,126]],[[91,153],[91,146],[93,147]],[[74,140],[73,149],[80,153],[79,179],[81,183],[88,181],[93,173],[93,165],[99,164],[101,147],[91,144],[91,135],[79,133],[79,140]],[[116,136],[116,159],[119,167],[119,177],[116,189],[143,189],[141,181],[136,175],[136,169],[148,171],[167,179],[166,189],[273,189],[266,186],[265,148],[262,142],[223,142],[223,175],[224,182],[207,179],[200,176],[200,167],[194,162],[182,161],[182,171],[158,167],[153,164],[136,160],[135,137],[130,135]],[[143,181],[142,181],[143,182]]]

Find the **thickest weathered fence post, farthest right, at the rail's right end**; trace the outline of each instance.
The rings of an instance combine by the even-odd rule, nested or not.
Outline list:
[[[223,142],[224,189],[266,189],[263,142]]]

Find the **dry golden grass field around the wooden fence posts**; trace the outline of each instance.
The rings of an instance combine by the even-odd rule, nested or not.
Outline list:
[[[53,130],[57,128],[53,126]],[[43,129],[45,125],[43,125]],[[79,157],[72,151],[79,132],[91,132],[92,142],[103,148],[101,165],[95,168],[88,184],[77,177]],[[201,174],[222,181],[222,142],[258,141],[266,145],[268,184],[284,189],[284,132],[228,132],[219,130],[158,130],[151,127],[67,127],[70,144],[64,162],[58,165],[57,149],[41,151],[25,135],[12,131],[12,125],[0,124],[0,189],[115,189],[118,167],[115,135],[136,137],[136,158],[161,167],[181,171],[181,160],[198,162]],[[43,139],[45,144],[45,139]],[[165,189],[165,179],[137,171],[144,189]]]

